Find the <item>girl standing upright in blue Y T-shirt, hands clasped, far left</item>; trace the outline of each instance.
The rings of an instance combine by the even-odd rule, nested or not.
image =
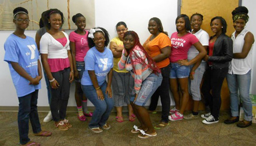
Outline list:
[[[36,42],[24,34],[29,21],[26,9],[18,7],[13,10],[13,23],[16,25],[16,30],[4,43],[4,61],[8,62],[19,99],[19,142],[22,145],[40,145],[30,141],[28,137],[29,120],[34,135],[50,136],[52,133],[41,130],[38,118],[37,99],[42,75]]]

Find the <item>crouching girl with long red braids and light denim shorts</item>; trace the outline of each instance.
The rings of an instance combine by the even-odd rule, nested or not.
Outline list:
[[[156,131],[151,123],[149,113],[144,105],[162,83],[160,69],[156,67],[153,59],[141,46],[138,35],[134,31],[128,31],[123,37],[124,49],[121,60],[118,63],[120,70],[130,71],[134,77],[134,96],[130,98],[137,119],[141,126],[134,126],[132,133],[140,133],[140,138],[156,136]]]

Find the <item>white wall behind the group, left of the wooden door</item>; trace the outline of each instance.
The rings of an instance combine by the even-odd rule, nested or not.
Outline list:
[[[141,43],[143,43],[150,35],[147,30],[147,26],[148,20],[152,17],[160,18],[162,20],[164,31],[171,34],[175,31],[177,1],[158,0],[156,3],[155,0],[95,0],[95,24],[96,26],[106,28],[109,32],[110,38],[114,38],[116,35],[116,23],[124,21],[127,23],[129,30],[133,30],[139,34]],[[17,95],[12,84],[8,64],[3,61],[4,42],[12,32],[13,31],[0,31],[0,106],[18,106]],[[66,32],[70,33],[71,31]],[[36,31],[26,31],[25,34],[34,37],[36,35]],[[38,106],[49,106],[44,78],[41,83],[42,88],[39,90]],[[93,106],[91,103],[88,103],[88,105]],[[174,105],[173,101],[172,105]],[[68,106],[75,106],[74,83],[71,86]]]

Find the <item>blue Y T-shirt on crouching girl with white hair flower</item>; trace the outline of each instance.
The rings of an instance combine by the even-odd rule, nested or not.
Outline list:
[[[85,72],[82,75],[82,85],[93,85],[88,70],[94,70],[99,85],[106,81],[106,76],[113,68],[113,54],[105,47],[104,52],[99,52],[95,47],[88,50],[85,56]]]

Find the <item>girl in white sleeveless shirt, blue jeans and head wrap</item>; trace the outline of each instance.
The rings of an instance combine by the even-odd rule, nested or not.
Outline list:
[[[234,33],[233,60],[230,62],[227,84],[230,90],[231,118],[224,121],[226,124],[239,121],[239,99],[243,101],[244,120],[238,122],[237,126],[244,128],[252,125],[252,101],[249,96],[252,70],[252,48],[254,43],[253,34],[245,29],[249,20],[248,9],[238,6],[232,11]]]

